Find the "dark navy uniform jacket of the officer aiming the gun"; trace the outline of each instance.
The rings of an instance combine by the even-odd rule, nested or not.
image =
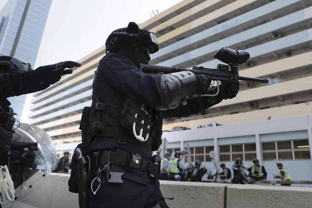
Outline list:
[[[94,81],[93,94],[99,100],[115,98],[123,106],[124,97],[129,97],[150,107],[156,107],[161,103],[159,93],[156,89],[155,77],[145,74],[138,69],[134,63],[125,56],[111,53],[104,56],[96,70],[97,74],[105,77],[107,85]],[[175,109],[164,111],[164,118],[186,117],[190,114],[199,113],[199,106],[196,99],[189,99],[188,104],[180,104]],[[204,102],[205,103],[205,102]],[[119,139],[97,137],[92,143],[93,150],[101,149],[122,149],[127,152],[139,153],[143,158],[151,158],[152,152],[141,145],[131,143],[120,144]],[[148,183],[147,174],[140,171],[124,172],[123,178],[128,178],[139,183]]]

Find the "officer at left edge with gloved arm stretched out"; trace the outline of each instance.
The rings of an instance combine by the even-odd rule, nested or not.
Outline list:
[[[32,70],[29,63],[12,56],[0,56],[0,165],[10,165],[10,162],[20,162],[30,167],[35,160],[34,150],[37,143],[29,143],[25,152],[25,143],[10,141],[13,137],[13,125],[16,121],[11,103],[7,98],[19,96],[46,89],[61,79],[61,75],[71,74],[74,66],[80,66],[73,61],[40,66]]]

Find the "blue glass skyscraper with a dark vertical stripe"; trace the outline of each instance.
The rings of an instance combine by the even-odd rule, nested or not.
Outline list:
[[[35,65],[52,0],[9,0],[0,11],[0,56]],[[26,95],[8,100],[20,120]]]

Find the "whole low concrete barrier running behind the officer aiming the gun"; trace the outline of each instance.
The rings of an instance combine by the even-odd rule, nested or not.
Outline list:
[[[78,208],[78,194],[68,191],[68,179],[68,174],[52,173],[22,202],[29,207]],[[307,187],[160,181],[160,189],[164,197],[174,197],[166,200],[170,208],[312,207],[312,189]]]

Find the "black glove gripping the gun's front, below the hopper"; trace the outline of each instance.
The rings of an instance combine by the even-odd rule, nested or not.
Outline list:
[[[219,88],[219,94],[217,97],[222,97],[223,99],[235,98],[239,90],[239,81],[226,80],[221,85],[219,85]]]

